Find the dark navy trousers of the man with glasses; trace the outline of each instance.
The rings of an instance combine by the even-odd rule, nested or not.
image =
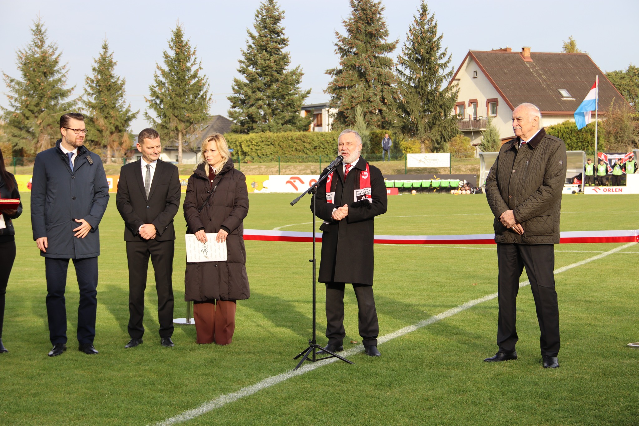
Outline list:
[[[45,257],[47,275],[47,317],[52,344],[66,343],[65,287],[69,259]],[[73,259],[75,277],[80,288],[78,307],[78,342],[93,343],[95,312],[98,307],[98,258]]]

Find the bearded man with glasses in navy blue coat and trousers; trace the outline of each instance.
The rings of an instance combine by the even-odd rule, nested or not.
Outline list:
[[[93,347],[98,306],[98,225],[109,202],[109,185],[100,156],[82,146],[84,117],[70,112],[60,118],[62,139],[36,155],[31,186],[33,240],[45,258],[47,316],[53,349],[66,351],[65,286],[69,259],[73,259],[80,288],[77,339],[79,350],[97,354]]]

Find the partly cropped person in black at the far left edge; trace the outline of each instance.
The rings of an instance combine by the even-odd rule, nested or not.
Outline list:
[[[20,199],[18,183],[13,174],[6,171],[4,158],[0,151],[0,198]],[[15,260],[15,230],[12,219],[22,214],[22,202],[15,209],[0,209],[0,353],[8,352],[2,344],[2,326],[4,320],[4,294],[9,275]]]

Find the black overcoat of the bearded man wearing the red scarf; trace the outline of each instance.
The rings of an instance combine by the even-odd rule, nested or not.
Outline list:
[[[321,261],[319,262],[319,282],[344,282],[373,285],[373,238],[374,218],[386,213],[387,195],[384,177],[380,169],[369,165],[371,171],[371,195],[373,202],[355,202],[353,190],[360,174],[366,170],[366,160],[360,156],[357,164],[346,177],[344,183],[343,166],[339,165],[333,174],[335,204],[326,201],[326,183],[321,183],[317,194],[318,218],[324,223],[322,232]],[[327,169],[321,173],[324,176]],[[334,220],[334,208],[348,204],[348,216]],[[311,211],[313,199],[311,197]]]

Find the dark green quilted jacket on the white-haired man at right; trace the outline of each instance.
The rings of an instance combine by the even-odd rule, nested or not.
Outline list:
[[[566,181],[566,144],[541,129],[527,144],[502,145],[486,179],[486,199],[497,243],[558,244],[561,194]],[[512,210],[523,235],[499,221]]]

